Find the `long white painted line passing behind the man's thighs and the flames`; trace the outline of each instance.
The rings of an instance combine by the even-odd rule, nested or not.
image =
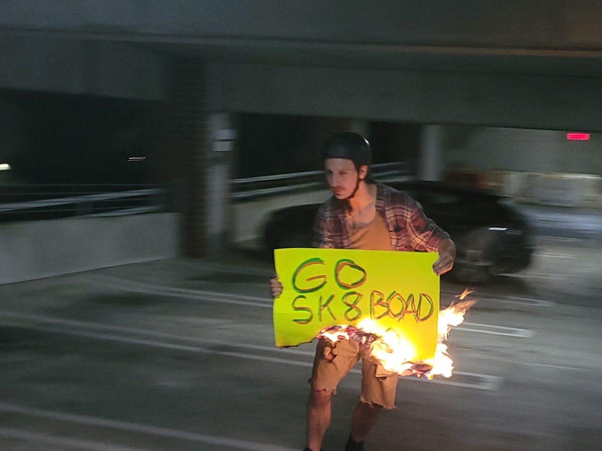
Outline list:
[[[4,316],[4,314],[2,314],[2,316]],[[14,318],[14,316],[13,316],[13,318]],[[18,320],[19,318],[15,318],[15,319]],[[69,321],[69,320],[60,320],[60,321]],[[0,324],[14,325],[14,322],[10,322],[10,319],[8,321],[0,320]],[[91,333],[91,332],[87,332],[87,331],[67,330],[64,327],[58,328],[58,327],[39,326],[39,325],[22,325],[22,324],[19,324],[19,326],[23,327],[23,328],[33,329],[33,330],[42,330],[42,331],[51,332],[51,333],[73,335],[73,336],[86,337],[86,338],[99,339],[99,340],[110,340],[110,341],[114,341],[114,342],[128,343],[131,345],[151,346],[154,348],[164,348],[164,349],[175,349],[176,351],[197,352],[199,354],[223,355],[225,357],[244,358],[246,360],[258,360],[258,361],[265,361],[265,362],[269,362],[269,363],[282,363],[282,364],[303,366],[303,367],[309,367],[309,368],[311,368],[313,366],[312,361],[298,361],[298,360],[290,360],[290,359],[285,359],[285,358],[267,357],[265,355],[246,354],[245,352],[236,352],[236,351],[219,351],[217,349],[211,349],[211,348],[207,348],[207,347],[203,347],[203,346],[178,345],[175,343],[157,342],[155,340],[137,339],[137,338],[123,337],[123,336],[111,335],[111,334],[105,334],[105,333]],[[152,335],[152,333],[147,333],[147,334]],[[238,343],[220,342],[220,344],[223,346],[229,346],[231,348],[237,348],[237,347],[240,347],[240,348],[247,347],[248,348],[249,347],[249,345],[244,345],[244,344],[239,345]],[[257,348],[259,348],[259,346],[257,346]],[[261,347],[262,351],[267,351],[268,349],[270,351],[278,351],[278,348]],[[307,352],[307,351],[297,351],[297,352],[294,352],[293,354],[308,355],[311,357],[314,356],[313,352]],[[447,379],[433,379],[432,381],[428,381],[428,382],[432,382],[433,384],[441,384],[441,385],[455,385],[457,387],[477,388],[479,390],[495,390],[495,387],[497,386],[497,385],[491,384],[491,380],[493,380],[492,378],[495,378],[495,380],[497,380],[498,379],[497,376],[481,375],[479,373],[465,373],[465,372],[459,372],[459,371],[456,371],[455,374],[471,375],[475,378],[482,378],[482,379],[486,380],[486,383],[472,384],[472,383],[467,383],[467,382],[450,381]],[[411,378],[409,380],[426,382],[426,379],[422,379],[422,378],[421,379]],[[491,387],[493,387],[493,388],[491,388]]]

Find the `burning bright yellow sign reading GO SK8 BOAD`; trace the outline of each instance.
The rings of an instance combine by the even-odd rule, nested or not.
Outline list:
[[[311,342],[332,325],[370,319],[416,349],[435,355],[439,312],[437,253],[276,249],[282,294],[274,301],[276,346]]]

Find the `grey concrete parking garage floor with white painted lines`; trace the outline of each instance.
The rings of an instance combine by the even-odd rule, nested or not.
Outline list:
[[[477,289],[455,375],[402,379],[367,450],[600,449],[600,244],[539,245]],[[0,449],[302,449],[314,346],[273,346],[271,274],[235,254],[0,286]],[[464,288],[444,280],[442,303]],[[324,450],[343,449],[359,381]]]

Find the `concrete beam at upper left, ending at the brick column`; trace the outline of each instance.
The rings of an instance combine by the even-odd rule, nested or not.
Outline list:
[[[3,37],[0,87],[163,99],[164,57],[132,44]]]

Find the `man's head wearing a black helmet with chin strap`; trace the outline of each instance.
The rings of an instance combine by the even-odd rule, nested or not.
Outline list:
[[[323,150],[326,179],[339,200],[349,200],[360,183],[370,183],[372,151],[359,133],[341,132],[332,136]]]

